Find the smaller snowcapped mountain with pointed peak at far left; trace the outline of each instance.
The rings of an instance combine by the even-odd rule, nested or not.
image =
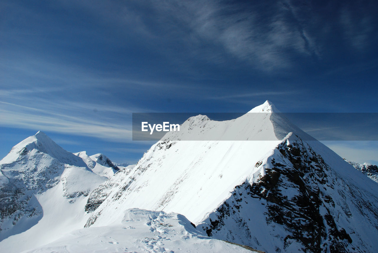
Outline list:
[[[61,217],[78,216],[77,211],[85,216],[88,194],[113,168],[88,159],[85,151],[79,154],[64,150],[38,132],[15,145],[0,161],[0,241],[29,228],[48,231],[40,225],[44,222],[46,226],[66,226],[69,222],[60,220],[59,212],[65,213]],[[52,199],[60,201],[52,203]],[[55,221],[51,223],[51,219]]]

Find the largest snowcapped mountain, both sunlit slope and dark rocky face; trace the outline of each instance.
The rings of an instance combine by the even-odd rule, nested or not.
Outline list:
[[[372,252],[378,185],[274,112],[267,101],[234,120],[191,117],[90,194],[85,226],[137,207],[266,252]]]

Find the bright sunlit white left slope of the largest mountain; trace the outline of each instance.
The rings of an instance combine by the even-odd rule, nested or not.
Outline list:
[[[194,223],[201,222],[206,213],[226,199],[235,185],[241,184],[253,173],[257,159],[280,142],[273,131],[270,115],[265,116],[263,122],[257,122],[257,126],[251,125],[254,120],[260,120],[254,113],[231,120],[229,123],[237,129],[229,133],[250,137],[260,133],[271,139],[269,141],[186,142],[177,141],[175,132],[167,134],[144,154],[130,172],[119,171],[113,180],[108,180],[100,186],[101,189],[90,194],[87,210],[94,209],[91,205],[97,207],[102,204],[88,225],[95,220],[98,224],[119,220],[121,217],[112,211],[113,208],[132,207],[173,211],[184,214]],[[227,136],[229,133],[224,129],[230,128],[222,125],[223,128],[217,130],[217,123],[204,116],[192,117],[183,123],[180,133],[198,136],[208,130]],[[104,217],[103,222],[99,212]]]

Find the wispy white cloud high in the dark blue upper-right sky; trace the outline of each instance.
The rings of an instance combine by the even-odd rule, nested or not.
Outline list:
[[[175,5],[172,6],[170,13],[177,13]],[[308,32],[288,22],[285,19],[288,11],[279,4],[272,8],[273,13],[265,21],[261,21],[257,11],[243,11],[219,2],[185,2],[185,7],[186,15],[179,19],[186,22],[196,36],[220,44],[229,54],[255,68],[271,71],[290,67],[287,50],[307,55],[316,51]],[[290,12],[293,15],[293,11]]]

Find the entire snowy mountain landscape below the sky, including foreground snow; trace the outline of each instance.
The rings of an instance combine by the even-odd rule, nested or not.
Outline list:
[[[268,101],[250,112],[192,117],[128,166],[29,137],[0,162],[0,247],[375,252],[378,184],[363,174],[373,168],[356,170]],[[177,141],[214,131],[238,141]]]

